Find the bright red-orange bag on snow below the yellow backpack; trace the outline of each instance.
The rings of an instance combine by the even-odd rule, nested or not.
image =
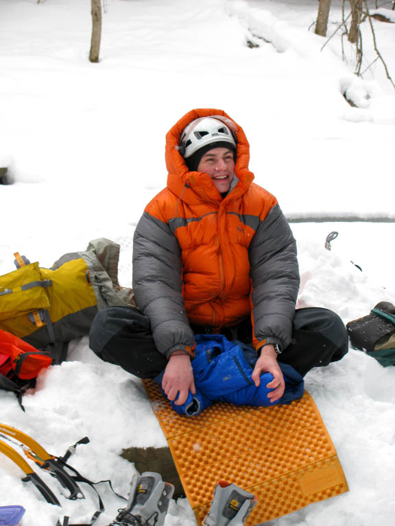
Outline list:
[[[21,380],[31,380],[51,363],[52,358],[48,353],[38,351],[21,338],[0,329],[1,374],[7,377],[12,375]]]

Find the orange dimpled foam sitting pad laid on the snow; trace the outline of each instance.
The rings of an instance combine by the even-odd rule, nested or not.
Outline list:
[[[348,491],[331,437],[308,392],[289,405],[215,403],[189,417],[171,409],[156,382],[143,384],[199,525],[219,480],[258,497],[246,526]]]

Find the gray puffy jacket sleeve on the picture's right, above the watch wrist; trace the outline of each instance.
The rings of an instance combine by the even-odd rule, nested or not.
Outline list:
[[[250,266],[254,336],[285,349],[291,342],[300,278],[296,241],[278,205],[256,229]]]

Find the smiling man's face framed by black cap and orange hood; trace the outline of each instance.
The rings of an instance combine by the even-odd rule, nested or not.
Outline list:
[[[208,173],[220,194],[228,192],[235,173],[233,152],[228,148],[209,150],[200,159],[197,171]]]

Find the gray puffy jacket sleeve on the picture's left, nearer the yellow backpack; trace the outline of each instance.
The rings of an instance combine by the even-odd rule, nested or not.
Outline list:
[[[156,348],[167,358],[195,344],[182,297],[180,253],[169,225],[144,212],[134,231],[133,289]]]

